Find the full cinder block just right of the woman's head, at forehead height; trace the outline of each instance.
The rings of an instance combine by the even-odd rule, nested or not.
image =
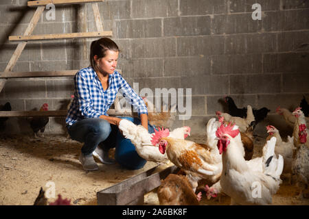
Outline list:
[[[137,57],[176,56],[175,38],[133,39],[132,55]]]

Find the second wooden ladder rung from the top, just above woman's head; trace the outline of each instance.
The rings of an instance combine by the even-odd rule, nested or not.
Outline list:
[[[95,38],[100,36],[113,36],[113,31],[97,31],[69,34],[38,34],[32,36],[9,36],[10,41],[31,41],[31,40],[61,40],[74,38]]]

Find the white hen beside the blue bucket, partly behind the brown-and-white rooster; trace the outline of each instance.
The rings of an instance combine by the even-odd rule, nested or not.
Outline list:
[[[122,119],[119,123],[119,129],[122,131],[124,137],[130,139],[132,144],[134,144],[140,157],[150,162],[168,162],[168,156],[161,154],[158,147],[152,145],[152,134],[148,133],[142,125],[135,125],[129,120]],[[190,131],[190,127],[181,127],[171,131],[170,136],[172,138],[185,139],[187,136],[190,136]]]

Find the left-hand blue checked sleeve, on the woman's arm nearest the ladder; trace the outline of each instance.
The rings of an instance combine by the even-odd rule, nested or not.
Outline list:
[[[74,77],[76,91],[78,93],[78,103],[80,104],[80,112],[85,118],[98,118],[101,114],[93,109],[93,101],[89,94],[89,80],[82,75],[82,72]]]

